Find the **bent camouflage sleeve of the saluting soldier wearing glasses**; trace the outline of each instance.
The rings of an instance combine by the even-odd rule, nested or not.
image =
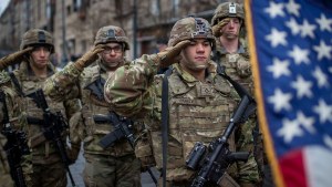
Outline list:
[[[70,63],[62,71],[56,72],[45,81],[44,93],[58,102],[79,97],[80,75],[81,71],[73,63]]]

